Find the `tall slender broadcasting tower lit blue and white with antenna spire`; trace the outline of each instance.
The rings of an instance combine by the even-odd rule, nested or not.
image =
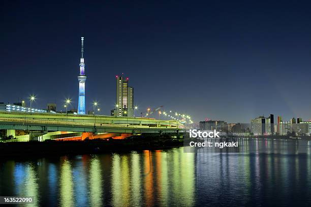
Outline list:
[[[84,73],[84,58],[83,58],[83,40],[81,37],[81,58],[80,58],[80,74],[78,76],[79,80],[79,105],[78,105],[78,114],[85,114],[85,81],[86,76]]]

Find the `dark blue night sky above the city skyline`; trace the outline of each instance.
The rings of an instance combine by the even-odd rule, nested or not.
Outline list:
[[[87,110],[98,100],[109,114],[124,73],[140,112],[311,118],[307,1],[43,2],[2,2],[0,102],[35,94],[35,107],[70,97],[77,108],[84,36]]]

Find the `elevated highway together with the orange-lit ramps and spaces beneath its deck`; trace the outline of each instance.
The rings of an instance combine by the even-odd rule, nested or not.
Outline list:
[[[186,130],[176,120],[102,115],[0,112],[0,129],[15,136],[15,130],[29,131],[27,140],[68,140],[81,137],[124,138],[135,134],[182,134]],[[80,134],[81,135],[80,135]],[[61,134],[61,135],[60,135]],[[67,137],[66,135],[67,134]],[[17,136],[16,136],[17,137]],[[69,139],[69,140],[70,140]]]

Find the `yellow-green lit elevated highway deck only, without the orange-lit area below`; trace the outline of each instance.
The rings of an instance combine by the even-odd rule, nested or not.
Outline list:
[[[71,114],[30,115],[16,112],[0,112],[0,129],[118,133],[175,133],[185,131],[183,126],[179,123],[177,125],[174,120]]]

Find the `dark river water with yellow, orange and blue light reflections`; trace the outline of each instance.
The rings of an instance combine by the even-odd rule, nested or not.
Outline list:
[[[269,150],[6,158],[0,195],[33,196],[30,206],[311,206],[304,144],[303,153],[297,141],[253,140],[244,147]]]

